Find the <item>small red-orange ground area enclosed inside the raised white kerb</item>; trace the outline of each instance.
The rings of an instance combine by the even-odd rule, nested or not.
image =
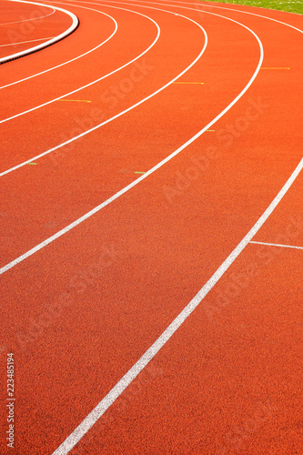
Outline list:
[[[66,13],[46,6],[1,1],[0,8],[0,57],[42,44],[72,24]]]

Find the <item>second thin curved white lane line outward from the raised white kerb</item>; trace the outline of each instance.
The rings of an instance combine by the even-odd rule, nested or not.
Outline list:
[[[93,4],[91,2],[87,2],[89,3],[90,5],[98,5],[98,4]],[[68,4],[67,4],[68,5]],[[100,6],[103,6],[103,5],[100,5]],[[107,5],[106,5],[107,6]],[[108,6],[107,6],[108,7]],[[119,10],[123,10],[123,11],[128,11],[130,13],[134,13],[136,15],[142,15],[141,13],[136,13],[130,9],[126,9],[126,8],[121,8],[119,6],[112,6],[113,8],[115,9],[119,9]],[[86,8],[86,9],[91,9],[91,8]],[[97,11],[97,10],[94,10],[94,11]],[[145,17],[146,19],[150,20],[151,22],[153,22],[156,27],[157,27],[157,36],[156,38],[154,39],[154,41],[152,42],[151,45],[149,45],[145,51],[143,51],[139,56],[136,56],[135,58],[133,58],[132,60],[130,60],[129,62],[127,62],[125,65],[122,65],[122,66],[119,66],[118,68],[116,68],[114,71],[111,71],[110,73],[107,73],[107,75],[105,76],[101,76],[101,77],[98,77],[95,81],[92,81],[92,82],[89,82],[88,84],[86,84],[85,86],[80,86],[79,88],[76,88],[76,90],[72,90],[71,92],[68,92],[68,93],[65,93],[64,95],[60,95],[54,99],[51,99],[50,101],[46,101],[45,103],[39,105],[39,106],[35,106],[35,107],[32,107],[31,109],[27,109],[25,110],[24,112],[20,112],[19,114],[15,114],[15,116],[9,116],[7,118],[4,118],[3,120],[0,120],[0,125],[2,123],[5,123],[5,122],[8,122],[9,120],[13,120],[14,118],[17,118],[19,116],[25,116],[25,114],[28,114],[29,112],[33,112],[35,111],[36,109],[40,109],[40,107],[45,107],[45,106],[48,106],[52,103],[55,103],[55,101],[58,101],[59,99],[62,99],[62,98],[66,98],[66,96],[70,96],[70,95],[73,95],[74,93],[76,92],[79,92],[80,90],[84,90],[85,88],[87,88],[88,86],[93,86],[94,84],[96,84],[97,82],[100,82],[102,81],[103,79],[106,79],[106,77],[108,76],[112,76],[114,75],[115,73],[117,73],[118,71],[121,71],[121,69],[125,68],[126,66],[129,66],[131,65],[132,63],[136,62],[136,60],[138,60],[139,58],[141,58],[142,56],[144,56],[146,54],[146,52],[148,52],[154,45],[156,45],[157,43],[157,40],[159,39],[159,36],[160,36],[160,27],[157,25],[157,22],[154,21],[154,19],[152,19],[151,17],[149,17],[148,15],[142,15],[143,17]],[[116,21],[115,21],[116,22]],[[116,33],[116,32],[115,32]],[[111,37],[111,36],[110,36]],[[107,38],[108,40],[109,38]],[[107,41],[106,40],[106,41]],[[106,43],[106,41],[104,43],[102,43],[102,45],[104,45]],[[1,177],[1,174],[0,174],[0,177]]]

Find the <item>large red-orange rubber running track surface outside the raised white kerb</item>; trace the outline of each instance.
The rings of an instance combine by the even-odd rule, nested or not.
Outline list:
[[[302,16],[219,4],[198,4],[199,11],[190,2],[47,5],[75,13],[79,27],[2,66],[2,85],[88,52],[113,34],[112,18],[117,31],[86,56],[0,89],[1,120],[63,96],[0,125],[1,172],[119,114],[187,68],[205,35],[180,15],[203,26],[207,48],[182,84],[0,177],[1,267],[157,165],[236,98],[260,58],[256,36],[241,24],[258,35],[264,61],[211,131],[2,274],[1,368],[13,352],[20,455],[52,454],[167,329],[277,196],[303,143],[303,34],[259,15],[300,30]],[[143,15],[161,31],[146,55],[65,96],[155,41],[157,25]],[[253,241],[298,248],[249,243],[70,453],[302,453],[301,174]],[[6,398],[4,373],[4,454],[12,453]]]

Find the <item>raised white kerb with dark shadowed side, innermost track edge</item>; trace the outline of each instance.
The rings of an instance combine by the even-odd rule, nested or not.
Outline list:
[[[9,0],[9,1],[16,2],[16,3],[25,3],[28,5],[45,6],[45,8],[50,7],[49,5],[44,5],[41,3],[29,2],[28,0]],[[76,30],[76,27],[78,26],[79,21],[78,21],[78,18],[76,17],[76,15],[74,15],[74,13],[71,13],[70,11],[67,11],[66,9],[59,8],[58,6],[52,5],[52,8],[56,9],[56,11],[61,11],[62,13],[69,15],[72,19],[72,25],[70,25],[69,28],[67,28],[60,35],[57,35],[55,38],[52,38],[52,39],[46,41],[45,43],[42,43],[41,45],[35,45],[34,47],[30,47],[29,49],[26,49],[24,51],[16,52],[15,54],[12,54],[11,56],[5,56],[5,57],[0,58],[0,64],[9,62],[10,60],[15,60],[15,58],[19,58],[21,56],[27,56],[28,54],[33,54],[33,52],[44,49],[48,45],[55,44],[57,41],[65,38],[66,36],[70,35],[71,33],[73,33]]]

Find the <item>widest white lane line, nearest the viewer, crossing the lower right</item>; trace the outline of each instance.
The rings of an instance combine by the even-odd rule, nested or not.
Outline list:
[[[196,296],[190,300],[187,307],[184,308],[177,316],[176,319],[167,327],[167,329],[160,335],[160,337],[154,342],[154,344],[146,350],[143,356],[138,359],[135,365],[129,369],[126,374],[120,379],[116,386],[111,389],[104,399],[96,405],[96,408],[92,410],[67,438],[66,440],[53,452],[53,455],[66,455],[76,443],[85,436],[86,432],[92,428],[100,417],[108,410],[108,408],[114,403],[114,401],[121,395],[121,393],[129,386],[129,384],[136,379],[137,375],[146,367],[148,362],[153,359],[157,352],[164,347],[168,339],[177,331],[177,329],[184,323],[188,316],[194,311],[195,308],[201,303],[201,301],[207,296],[208,292],[216,285],[217,281],[223,276],[231,264],[237,259],[239,254],[247,247],[260,227],[268,219],[269,215],[278,206],[280,200],[286,195],[288,189],[291,187],[295,179],[298,177],[299,172],[303,167],[303,158],[301,159],[298,167],[294,170],[292,175],[288,178],[287,183],[279,191],[278,195],[274,198],[268,208],[265,210],[263,215],[258,218],[257,223],[249,230],[247,235],[237,244],[237,247],[230,253],[227,259],[217,268],[216,272],[211,278],[208,279],[207,283],[201,288]]]

